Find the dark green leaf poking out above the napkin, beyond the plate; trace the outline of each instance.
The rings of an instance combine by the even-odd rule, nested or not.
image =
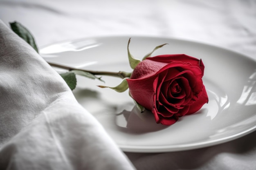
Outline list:
[[[11,29],[23,40],[25,40],[29,45],[31,45],[38,53],[38,48],[33,35],[25,28],[22,24],[18,22],[10,22]]]

